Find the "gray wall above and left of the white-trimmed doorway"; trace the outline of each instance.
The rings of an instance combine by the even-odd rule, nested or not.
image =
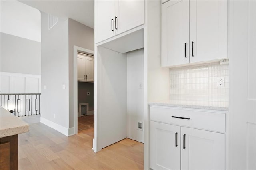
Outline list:
[[[74,127],[74,45],[94,51],[94,30],[72,19],[68,19],[68,68],[69,68],[69,127]]]

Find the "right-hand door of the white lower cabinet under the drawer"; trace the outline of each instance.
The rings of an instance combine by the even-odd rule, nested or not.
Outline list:
[[[181,134],[182,170],[225,169],[225,134],[186,127]]]

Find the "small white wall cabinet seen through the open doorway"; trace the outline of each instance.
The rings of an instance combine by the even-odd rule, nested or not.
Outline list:
[[[83,55],[77,56],[77,81],[94,81],[94,59]]]

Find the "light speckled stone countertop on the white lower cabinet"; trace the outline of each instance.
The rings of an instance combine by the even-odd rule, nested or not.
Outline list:
[[[180,104],[179,102],[180,101],[162,100],[162,101],[148,102],[148,105],[171,106],[171,107],[185,107],[185,108],[193,108],[193,109],[209,109],[209,110],[228,111],[228,107],[215,107],[215,106],[201,105],[200,102],[198,102],[198,103],[184,102],[182,104]]]

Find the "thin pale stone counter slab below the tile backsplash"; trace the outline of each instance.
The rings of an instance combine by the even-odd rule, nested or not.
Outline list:
[[[192,109],[209,109],[218,111],[228,111],[228,107],[215,107],[215,106],[202,106],[202,105],[185,105],[185,104],[173,104],[168,102],[148,102],[148,105],[158,105],[158,106],[171,106],[171,107],[184,107]]]

